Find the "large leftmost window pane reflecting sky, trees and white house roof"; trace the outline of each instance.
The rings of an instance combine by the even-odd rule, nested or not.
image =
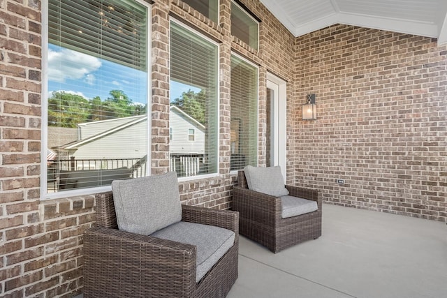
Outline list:
[[[149,9],[142,3],[48,1],[47,193],[147,174]]]

